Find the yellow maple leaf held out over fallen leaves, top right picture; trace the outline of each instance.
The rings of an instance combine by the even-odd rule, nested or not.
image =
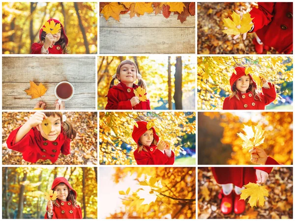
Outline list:
[[[228,29],[222,30],[222,32],[227,35],[237,35],[246,33],[251,30],[253,24],[250,24],[253,18],[251,18],[250,13],[243,14],[242,20],[240,19],[240,15],[233,11],[231,15],[233,20],[230,18],[223,19],[224,26]],[[237,28],[239,27],[239,28]]]

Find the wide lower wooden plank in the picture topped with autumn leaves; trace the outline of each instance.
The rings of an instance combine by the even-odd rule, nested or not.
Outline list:
[[[99,28],[99,53],[195,53],[195,28]]]

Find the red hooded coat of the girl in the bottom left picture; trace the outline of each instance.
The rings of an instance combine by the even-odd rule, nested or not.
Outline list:
[[[68,183],[68,181],[64,177],[57,177],[52,184],[52,190],[56,186],[59,185],[59,183],[65,183],[68,188],[76,195],[77,198],[77,193],[76,191],[71,187],[71,185]],[[76,207],[72,205],[72,201],[60,201],[57,199],[57,203],[59,204],[59,207],[55,204],[53,204],[53,216],[51,219],[82,219],[82,210],[81,207],[76,204]],[[46,213],[44,218],[48,219],[48,213],[47,213],[48,208],[46,207]]]

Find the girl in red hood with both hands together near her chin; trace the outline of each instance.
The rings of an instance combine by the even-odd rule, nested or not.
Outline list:
[[[134,158],[137,165],[173,165],[175,161],[174,152],[170,144],[159,137],[153,127],[147,129],[147,121],[137,121],[138,127],[134,125],[132,138],[137,143]]]

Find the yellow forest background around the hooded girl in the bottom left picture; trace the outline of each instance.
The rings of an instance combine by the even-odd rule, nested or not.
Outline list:
[[[44,219],[53,180],[77,192],[83,219],[97,219],[97,167],[2,167],[2,219]]]

